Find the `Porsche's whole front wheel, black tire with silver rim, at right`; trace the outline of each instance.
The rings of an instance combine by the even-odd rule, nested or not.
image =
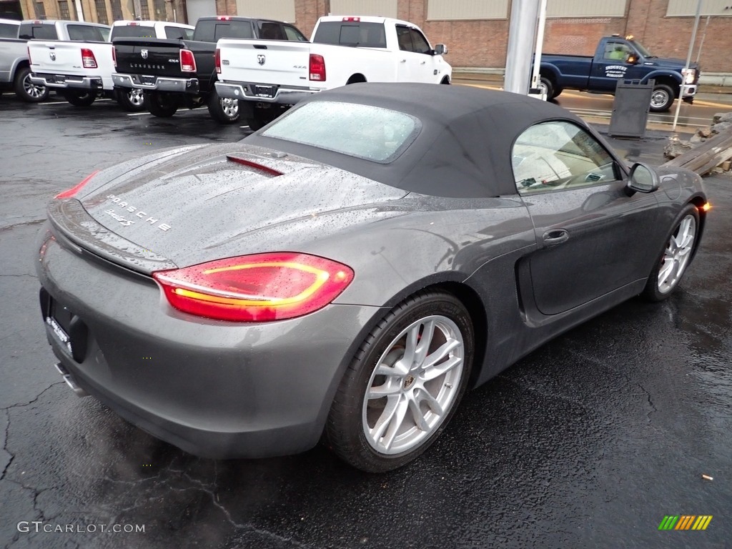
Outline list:
[[[643,296],[660,302],[673,294],[691,264],[699,236],[699,212],[693,204],[681,210],[643,289]],[[679,240],[681,236],[681,240]]]

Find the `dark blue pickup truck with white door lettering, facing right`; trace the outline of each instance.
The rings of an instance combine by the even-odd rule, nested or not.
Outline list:
[[[651,55],[632,36],[621,38],[613,35],[600,39],[594,56],[542,55],[539,88],[545,91],[547,99],[553,99],[565,89],[613,94],[618,81],[646,83],[652,79],[655,85],[651,111],[661,112],[668,111],[673,100],[679,97],[682,78],[682,99],[692,102],[699,81],[699,68],[697,64],[691,64],[685,78],[681,74],[683,71],[683,60]]]

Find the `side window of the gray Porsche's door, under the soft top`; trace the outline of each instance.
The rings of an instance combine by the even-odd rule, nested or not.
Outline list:
[[[512,167],[520,194],[589,187],[618,179],[600,141],[565,120],[529,127],[514,143]]]

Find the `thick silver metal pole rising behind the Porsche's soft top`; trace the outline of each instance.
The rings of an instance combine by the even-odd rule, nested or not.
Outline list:
[[[537,36],[539,0],[513,0],[506,52],[504,89],[515,94],[529,93],[531,53]]]

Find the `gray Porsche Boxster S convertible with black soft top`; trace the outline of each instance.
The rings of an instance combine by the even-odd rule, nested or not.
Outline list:
[[[628,168],[556,105],[356,84],[58,195],[42,315],[78,394],[187,452],[324,438],[386,471],[468,387],[625,299],[668,297],[707,209],[694,173]]]

